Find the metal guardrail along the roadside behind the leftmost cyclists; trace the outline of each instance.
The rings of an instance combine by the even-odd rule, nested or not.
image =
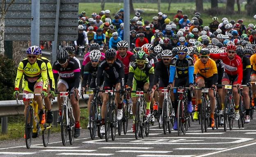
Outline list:
[[[79,101],[80,108],[87,108],[87,102],[88,102],[89,96],[84,94],[84,98],[85,99],[82,99],[82,97],[80,97],[80,101]],[[24,115],[23,111],[24,111],[24,104],[22,100],[18,100],[18,104],[16,100],[0,101],[0,117],[1,117],[2,133],[7,133],[8,117]],[[51,111],[53,112],[53,125],[57,126],[57,115],[59,112],[57,97],[55,97],[55,100],[53,100]]]

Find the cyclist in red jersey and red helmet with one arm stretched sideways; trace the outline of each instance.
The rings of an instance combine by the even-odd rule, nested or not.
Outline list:
[[[219,54],[212,54],[210,53],[210,58],[213,59],[221,59],[224,64],[224,75],[222,77],[222,84],[232,84],[233,86],[240,86],[242,83],[243,78],[243,67],[242,67],[242,60],[241,58],[236,55],[236,46],[235,45],[229,45],[226,47],[227,53],[219,53]],[[223,87],[223,93],[222,93],[222,111],[220,113],[223,113],[224,110],[224,103],[225,103],[225,97],[226,97],[226,90]],[[235,102],[235,120],[238,120],[239,115],[239,100],[240,95],[238,93],[238,88],[233,87],[233,96],[234,96],[234,102]]]

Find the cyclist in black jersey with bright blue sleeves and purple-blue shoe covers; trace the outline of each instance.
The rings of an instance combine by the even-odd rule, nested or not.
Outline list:
[[[176,47],[176,51],[178,55],[176,55],[171,59],[169,87],[172,87],[172,84],[174,83],[175,87],[190,86],[190,88],[194,88],[193,87],[194,63],[192,58],[189,55],[187,55],[187,46],[183,46],[183,45],[178,46]],[[175,76],[175,81],[174,81],[174,76]],[[188,90],[188,93],[190,93],[190,90]],[[188,94],[187,96],[188,96],[187,112],[191,113],[193,111],[193,106],[191,102],[192,98],[190,94]],[[176,93],[176,91],[174,91],[173,107],[176,114],[177,108],[178,108],[178,93]],[[174,118],[174,130],[177,130],[177,117]]]

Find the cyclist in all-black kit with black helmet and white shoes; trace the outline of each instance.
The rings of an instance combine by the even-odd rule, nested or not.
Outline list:
[[[120,91],[115,95],[115,103],[117,105],[117,120],[122,119],[123,111],[122,105],[123,100],[120,100],[120,94],[124,91],[124,69],[123,63],[117,59],[117,51],[115,49],[107,49],[105,53],[105,59],[101,61],[97,76],[96,76],[96,88],[97,93],[100,89],[102,75],[104,75],[103,90],[111,90],[115,86],[115,91]],[[101,107],[102,126],[100,133],[105,133],[105,110],[106,103],[108,100],[107,93],[102,93],[103,104]]]

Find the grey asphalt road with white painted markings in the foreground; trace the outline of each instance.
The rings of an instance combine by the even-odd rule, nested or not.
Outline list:
[[[255,116],[254,116],[255,117]],[[131,120],[130,120],[131,123]],[[224,132],[223,126],[207,133],[201,133],[199,123],[192,122],[186,135],[178,136],[177,131],[164,135],[158,122],[150,127],[149,137],[135,139],[129,131],[118,136],[115,141],[105,142],[105,138],[91,140],[89,131],[82,129],[74,144],[62,145],[60,133],[52,134],[48,147],[43,147],[41,136],[33,139],[27,149],[25,139],[0,142],[0,157],[64,157],[64,156],[110,156],[110,157],[256,157],[256,120],[245,128],[238,128],[234,122],[233,130]]]

